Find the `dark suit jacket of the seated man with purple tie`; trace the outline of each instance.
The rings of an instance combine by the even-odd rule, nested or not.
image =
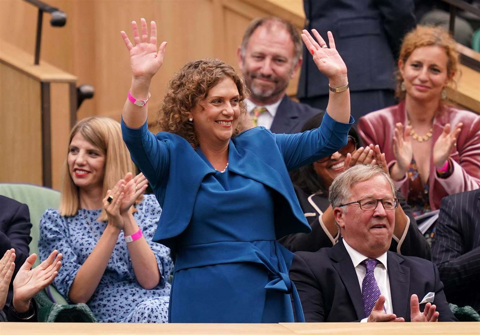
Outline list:
[[[393,313],[410,321],[410,297],[435,293],[439,321],[456,321],[448,307],[437,267],[430,261],[387,251]],[[342,241],[317,252],[297,252],[290,267],[305,321],[349,322],[364,318],[361,288]],[[423,304],[420,310],[423,310]]]

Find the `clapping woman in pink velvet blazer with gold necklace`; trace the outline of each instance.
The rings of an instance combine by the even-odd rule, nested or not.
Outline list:
[[[448,33],[418,26],[400,51],[401,102],[359,120],[362,140],[380,146],[417,215],[438,209],[446,195],[480,188],[480,116],[443,103],[457,64]]]

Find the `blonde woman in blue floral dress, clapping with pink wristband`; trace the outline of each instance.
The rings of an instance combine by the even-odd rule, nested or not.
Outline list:
[[[52,249],[63,254],[54,285],[100,322],[167,322],[173,263],[170,250],[152,242],[161,208],[154,196],[142,197],[145,177],[132,178],[120,124],[77,123],[65,167],[60,208],[43,214],[38,242],[41,258]]]

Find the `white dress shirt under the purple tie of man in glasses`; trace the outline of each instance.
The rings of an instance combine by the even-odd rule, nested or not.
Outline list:
[[[342,239],[342,240],[343,240],[343,244],[345,245],[345,248],[347,249],[348,255],[350,255],[353,266],[355,267],[355,272],[357,273],[357,277],[358,277],[360,289],[361,289],[363,278],[367,273],[367,269],[365,268],[365,265],[362,263],[362,261],[370,260],[370,258],[363,256],[362,254],[360,254],[360,252],[350,247],[348,243],[345,242],[345,239]],[[382,256],[377,257],[376,259],[378,260],[378,264],[377,266],[375,266],[375,269],[373,270],[373,276],[375,277],[378,288],[380,288],[380,293],[385,297],[385,304],[384,304],[385,310],[387,314],[390,314],[390,313],[393,313],[393,307],[392,307],[392,296],[390,294],[390,281],[388,280],[388,271],[386,267],[387,253],[385,252]],[[366,321],[367,321],[367,318],[361,320],[361,322],[366,322]]]

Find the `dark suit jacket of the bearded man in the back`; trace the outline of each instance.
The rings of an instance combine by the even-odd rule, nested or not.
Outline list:
[[[277,134],[300,133],[303,124],[312,116],[321,112],[321,110],[304,103],[293,101],[285,95],[278,105],[270,131]]]

